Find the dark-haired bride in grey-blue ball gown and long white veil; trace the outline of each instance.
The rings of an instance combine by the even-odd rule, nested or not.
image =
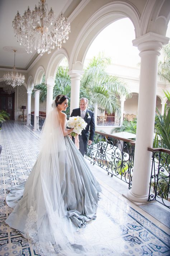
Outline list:
[[[41,255],[88,255],[77,243],[78,227],[96,218],[99,183],[69,138],[68,97],[53,101],[41,133],[40,152],[24,183],[10,189],[14,208],[6,223],[28,239]]]

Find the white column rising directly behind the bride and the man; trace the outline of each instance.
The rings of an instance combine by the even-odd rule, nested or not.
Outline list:
[[[79,107],[80,101],[80,79],[83,71],[70,70],[68,72],[71,78],[71,97],[70,97],[70,114],[74,108]]]

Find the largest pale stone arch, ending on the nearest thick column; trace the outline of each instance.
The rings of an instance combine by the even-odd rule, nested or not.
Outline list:
[[[136,6],[125,1],[108,3],[91,16],[77,36],[70,56],[69,69],[82,70],[91,42],[105,27],[121,18],[129,18],[136,37],[140,36],[140,13]]]

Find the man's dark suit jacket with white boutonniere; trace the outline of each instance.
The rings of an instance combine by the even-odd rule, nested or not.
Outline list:
[[[73,109],[70,116],[81,116],[80,108]],[[90,116],[90,118],[88,118]],[[84,121],[87,123],[85,130],[82,130],[81,135],[84,142],[84,147],[87,147],[88,144],[88,135],[89,135],[89,127],[90,127],[90,136],[89,140],[93,141],[94,134],[95,134],[95,122],[94,122],[94,113],[87,109]]]

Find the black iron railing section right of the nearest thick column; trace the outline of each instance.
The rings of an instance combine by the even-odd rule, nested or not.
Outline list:
[[[170,150],[148,148],[152,152],[152,171],[148,201],[158,201],[170,208]]]

